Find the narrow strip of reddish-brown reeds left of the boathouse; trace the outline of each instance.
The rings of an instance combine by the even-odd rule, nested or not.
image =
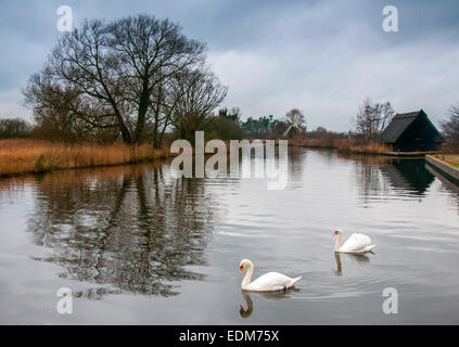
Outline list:
[[[289,144],[310,149],[336,150],[350,154],[382,154],[391,151],[383,143],[356,139],[293,139],[289,141]]]

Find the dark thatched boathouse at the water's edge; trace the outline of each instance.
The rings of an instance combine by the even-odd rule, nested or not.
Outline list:
[[[378,140],[390,144],[395,152],[435,151],[444,141],[422,110],[396,114]]]

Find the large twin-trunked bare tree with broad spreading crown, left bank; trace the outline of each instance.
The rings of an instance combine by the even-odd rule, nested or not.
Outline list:
[[[152,121],[155,88],[200,63],[204,51],[205,44],[188,39],[168,20],[85,21],[59,40],[46,67],[30,78],[26,102],[35,111],[56,111],[47,99],[64,92],[73,99],[60,103],[59,111],[65,106],[79,121],[116,128],[125,143],[138,143]]]

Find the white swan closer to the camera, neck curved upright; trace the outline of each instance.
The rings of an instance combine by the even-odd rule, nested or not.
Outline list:
[[[244,291],[252,292],[275,292],[275,291],[285,291],[295,285],[299,281],[299,278],[291,279],[279,272],[268,272],[264,275],[256,279],[251,283],[252,274],[254,273],[254,265],[251,260],[244,259],[239,265],[241,273],[244,272],[244,268],[247,268],[247,273],[242,280],[241,287]]]

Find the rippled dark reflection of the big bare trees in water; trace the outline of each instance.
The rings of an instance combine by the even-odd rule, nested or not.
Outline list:
[[[53,250],[42,260],[62,266],[63,278],[122,292],[176,295],[168,282],[201,279],[183,267],[205,262],[214,218],[206,185],[171,179],[167,166],[103,172],[61,171],[37,184],[28,230]]]

